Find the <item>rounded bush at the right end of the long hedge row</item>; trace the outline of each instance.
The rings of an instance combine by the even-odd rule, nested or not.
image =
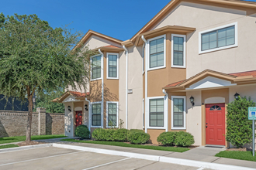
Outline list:
[[[132,144],[145,144],[150,139],[150,135],[143,130],[132,129],[128,133],[128,141]]]

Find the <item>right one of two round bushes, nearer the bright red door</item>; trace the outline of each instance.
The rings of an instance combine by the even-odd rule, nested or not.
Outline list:
[[[185,131],[179,131],[176,133],[176,138],[175,138],[176,146],[190,146],[194,143],[195,141],[192,134]]]

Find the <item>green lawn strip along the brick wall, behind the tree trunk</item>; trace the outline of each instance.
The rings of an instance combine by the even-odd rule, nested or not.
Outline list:
[[[54,135],[40,135],[40,136],[31,136],[31,140],[40,140],[40,139],[51,139],[51,138],[64,138],[64,134],[54,134]],[[7,144],[17,141],[25,141],[26,136],[12,136],[0,138],[0,144]]]

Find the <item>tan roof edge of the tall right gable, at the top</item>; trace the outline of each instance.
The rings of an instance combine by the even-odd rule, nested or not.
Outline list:
[[[240,1],[240,0],[171,0],[171,2],[165,5],[164,8],[162,8],[161,11],[157,13],[157,15],[154,15],[154,17],[150,19],[150,21],[147,22],[147,24],[144,27],[142,27],[130,39],[130,42],[134,42],[135,39],[137,39],[137,36],[139,36],[141,33],[147,32],[150,28],[155,26],[155,24],[158,21],[163,19],[165,15],[168,15],[168,12],[170,12],[171,9],[175,8],[175,6],[178,5],[180,2],[194,2],[194,3],[209,2],[209,3],[220,4],[220,5],[227,5],[227,8],[231,8],[231,7],[250,8],[253,10],[254,13],[256,13],[256,2],[247,2],[247,1]],[[250,12],[250,13],[253,13],[253,12]]]

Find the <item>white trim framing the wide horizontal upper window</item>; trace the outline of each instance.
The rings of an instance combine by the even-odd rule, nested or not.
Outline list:
[[[235,43],[233,45],[230,45],[230,46],[222,46],[222,47],[217,47],[215,49],[207,49],[207,50],[203,50],[202,51],[202,34],[203,33],[206,33],[206,32],[212,32],[212,31],[215,31],[217,29],[224,29],[226,27],[229,27],[229,26],[234,26],[235,27]],[[218,39],[217,39],[218,40]],[[213,51],[218,51],[218,50],[221,50],[221,49],[230,49],[230,48],[233,48],[235,46],[238,46],[238,38],[237,38],[237,22],[234,22],[234,23],[231,23],[231,24],[227,24],[225,26],[219,26],[219,27],[216,27],[216,28],[213,28],[213,29],[207,29],[206,31],[202,31],[202,32],[199,32],[199,54],[202,54],[202,53],[209,53],[209,52],[213,52]]]

